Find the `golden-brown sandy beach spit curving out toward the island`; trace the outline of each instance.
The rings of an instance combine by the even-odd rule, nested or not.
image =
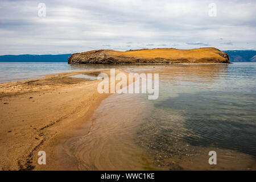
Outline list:
[[[63,157],[59,144],[86,123],[110,95],[97,92],[100,80],[68,76],[83,73],[96,76],[101,72],[109,74],[108,70],[79,71],[0,83],[0,169],[43,169],[45,165],[37,164],[38,151],[42,150],[47,155],[45,169],[61,169],[54,157],[57,154]],[[59,146],[59,151],[54,146]],[[71,160],[75,169],[75,160]]]

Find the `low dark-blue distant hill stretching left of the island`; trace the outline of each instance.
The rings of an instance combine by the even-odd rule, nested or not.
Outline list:
[[[67,62],[70,53],[64,55],[3,55],[0,62]]]

